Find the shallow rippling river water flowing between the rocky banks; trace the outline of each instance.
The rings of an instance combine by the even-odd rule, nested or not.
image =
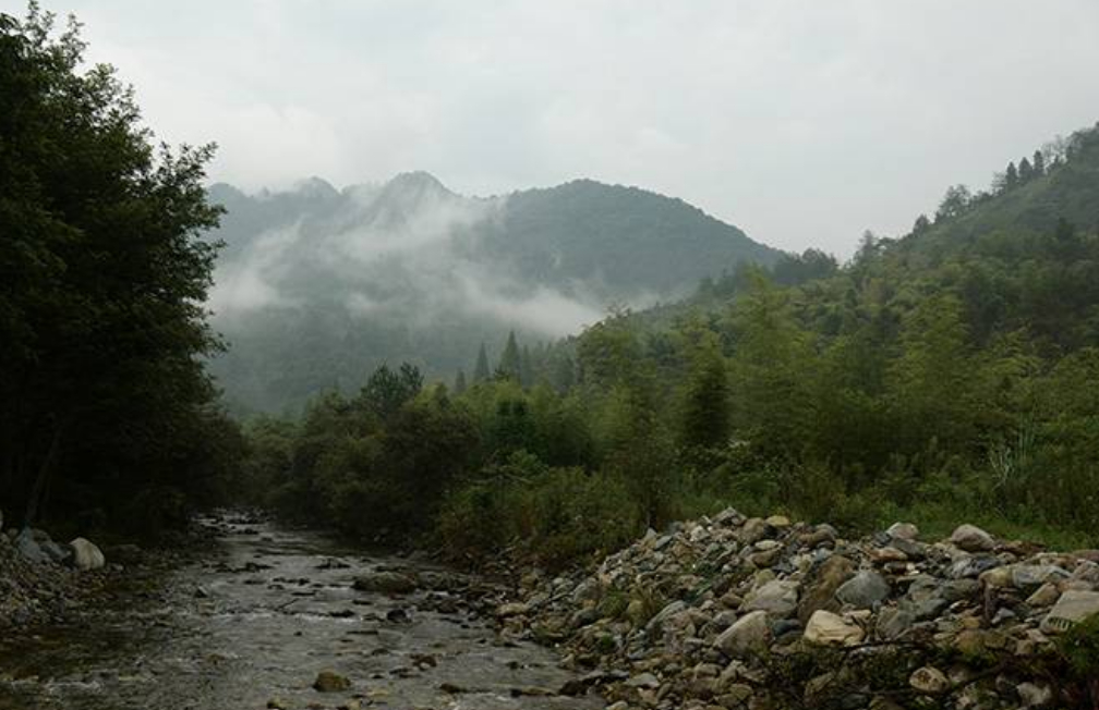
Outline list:
[[[444,590],[459,579],[444,570],[269,523],[208,525],[223,554],[178,570],[158,591],[0,639],[0,710],[603,707],[546,692],[571,675],[546,649],[498,639],[465,595]],[[352,587],[392,566],[434,590]],[[322,669],[351,688],[314,690]]]

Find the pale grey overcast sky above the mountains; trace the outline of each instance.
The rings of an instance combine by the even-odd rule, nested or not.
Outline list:
[[[1096,0],[43,4],[214,180],[589,177],[841,256],[1099,120]]]

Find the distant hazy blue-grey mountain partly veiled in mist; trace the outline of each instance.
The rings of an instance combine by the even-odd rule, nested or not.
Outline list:
[[[386,361],[449,379],[509,330],[552,340],[782,256],[681,200],[591,180],[492,198],[426,172],[209,193],[226,210],[210,306],[230,345],[211,370],[241,410],[355,388]]]

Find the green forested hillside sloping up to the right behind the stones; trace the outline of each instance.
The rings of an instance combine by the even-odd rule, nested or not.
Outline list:
[[[868,235],[843,267],[733,270],[548,349],[509,341],[449,390],[380,370],[301,421],[254,422],[251,475],[359,534],[411,525],[548,562],[726,504],[1095,544],[1097,145],[1077,133],[957,209],[954,188],[934,223]]]

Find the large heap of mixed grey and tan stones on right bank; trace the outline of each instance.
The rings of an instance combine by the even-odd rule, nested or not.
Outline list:
[[[1070,707],[1068,678],[1034,669],[1096,613],[1099,551],[969,525],[936,542],[909,523],[844,540],[733,509],[650,531],[590,574],[531,573],[497,609],[504,635],[591,669],[563,691],[615,710]]]

